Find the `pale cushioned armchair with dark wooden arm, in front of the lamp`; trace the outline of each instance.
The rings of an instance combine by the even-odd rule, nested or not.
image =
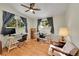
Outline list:
[[[52,44],[49,46],[49,55],[54,56],[75,56],[78,48],[71,42],[66,42],[63,48],[56,47]]]

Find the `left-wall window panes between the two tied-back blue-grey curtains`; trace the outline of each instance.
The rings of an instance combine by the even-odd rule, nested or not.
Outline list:
[[[25,33],[25,26],[20,17],[11,18],[11,20],[6,24],[7,29],[15,29],[17,34]]]

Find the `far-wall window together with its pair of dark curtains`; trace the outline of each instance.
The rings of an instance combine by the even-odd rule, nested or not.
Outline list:
[[[46,30],[47,29],[47,30]],[[46,19],[38,19],[37,31],[44,31],[54,33],[54,26],[53,26],[53,18],[47,17]]]

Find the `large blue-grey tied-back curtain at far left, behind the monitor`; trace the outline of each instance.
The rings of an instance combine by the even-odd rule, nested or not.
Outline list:
[[[3,11],[3,26],[2,26],[2,31],[1,33],[4,34],[6,31],[5,25],[11,20],[12,17],[15,15],[6,11]]]

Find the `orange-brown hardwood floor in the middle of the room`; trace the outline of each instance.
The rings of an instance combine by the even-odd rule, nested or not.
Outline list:
[[[30,39],[23,46],[20,48],[17,47],[9,53],[4,49],[2,56],[47,56],[48,46],[47,43],[37,42],[36,40]]]

